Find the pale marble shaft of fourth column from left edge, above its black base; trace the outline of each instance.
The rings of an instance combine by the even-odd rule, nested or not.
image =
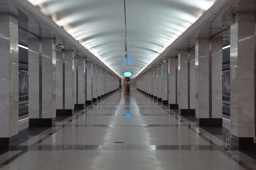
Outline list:
[[[78,57],[77,72],[78,72],[78,102],[76,104],[84,104],[86,101],[86,76],[85,76],[85,58]],[[75,81],[76,82],[76,81]],[[76,86],[75,86],[76,88]],[[75,93],[76,94],[76,93]]]

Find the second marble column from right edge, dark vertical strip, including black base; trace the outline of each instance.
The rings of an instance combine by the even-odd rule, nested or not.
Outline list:
[[[222,38],[195,45],[195,116],[199,126],[222,126]]]

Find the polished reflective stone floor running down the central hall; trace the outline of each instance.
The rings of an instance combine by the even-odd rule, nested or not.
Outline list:
[[[19,146],[0,156],[1,170],[256,170],[250,153],[229,150],[230,120],[201,128],[137,90],[28,128]]]

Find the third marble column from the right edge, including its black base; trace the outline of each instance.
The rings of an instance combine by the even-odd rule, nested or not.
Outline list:
[[[190,58],[190,54],[192,54],[192,58]],[[195,73],[190,74],[190,61],[195,60],[195,51],[190,50],[180,50],[178,56],[178,68],[179,73],[179,112],[180,115],[188,115],[195,116],[195,108],[191,108],[190,106],[190,90],[195,89],[194,83],[195,76],[191,77],[190,75],[195,75]],[[194,67],[195,69],[195,67]],[[190,87],[193,85],[194,87]]]

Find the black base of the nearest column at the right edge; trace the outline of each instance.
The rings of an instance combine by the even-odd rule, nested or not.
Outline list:
[[[231,149],[241,151],[256,151],[256,144],[253,142],[253,137],[237,137],[231,135]]]

